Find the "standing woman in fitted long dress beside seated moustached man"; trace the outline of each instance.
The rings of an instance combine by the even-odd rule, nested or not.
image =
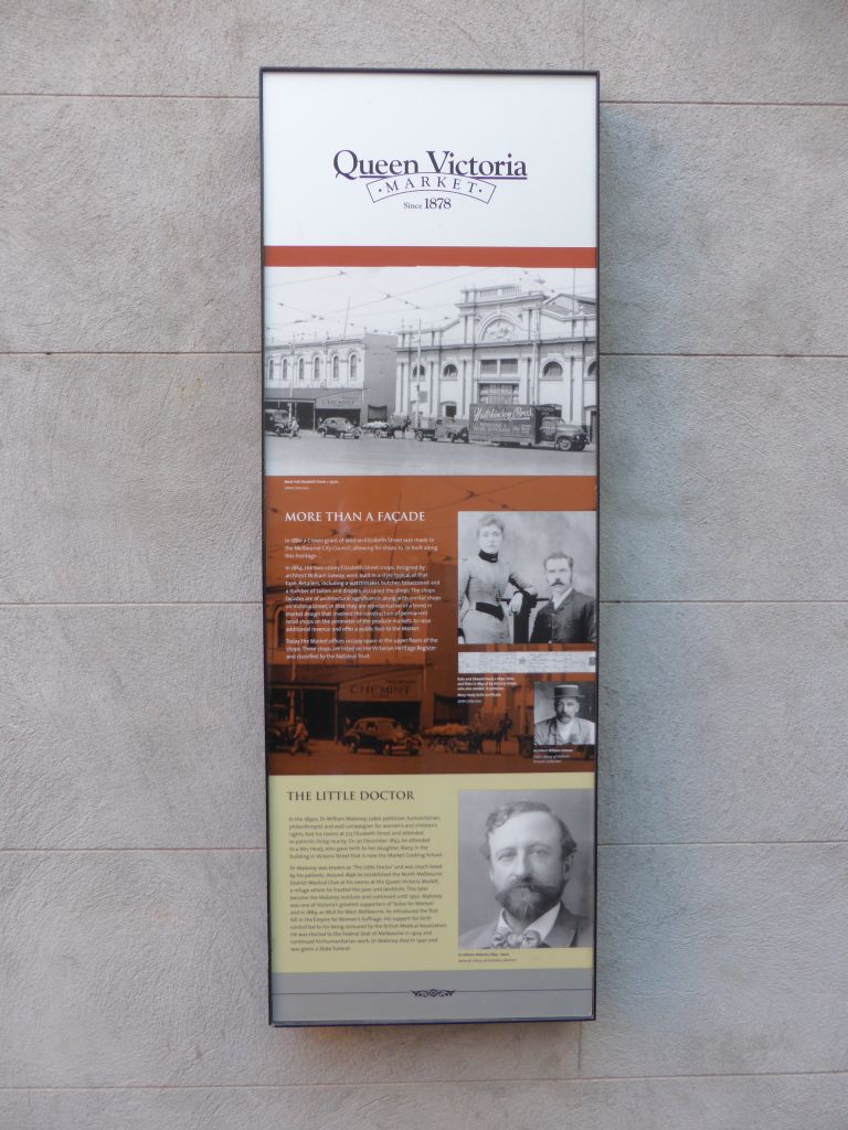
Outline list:
[[[484,514],[477,523],[477,555],[459,563],[459,631],[464,643],[510,643],[509,612],[521,608],[522,594],[536,589],[501,554],[503,519]]]

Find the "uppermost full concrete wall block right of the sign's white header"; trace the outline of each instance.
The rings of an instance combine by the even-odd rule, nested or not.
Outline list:
[[[605,106],[602,349],[843,354],[842,106]]]

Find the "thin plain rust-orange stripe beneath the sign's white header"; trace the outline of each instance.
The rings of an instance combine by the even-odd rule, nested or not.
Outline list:
[[[266,267],[596,267],[595,247],[266,247]]]

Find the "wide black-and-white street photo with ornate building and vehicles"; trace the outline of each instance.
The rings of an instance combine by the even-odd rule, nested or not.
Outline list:
[[[589,269],[266,268],[266,475],[595,475],[596,305]]]

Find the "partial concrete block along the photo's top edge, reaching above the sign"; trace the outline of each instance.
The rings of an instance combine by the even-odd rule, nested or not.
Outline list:
[[[119,0],[9,11],[2,89],[40,94],[256,97],[259,67],[555,68],[582,62],[580,0],[459,0],[450,8],[360,0]],[[72,15],[71,15],[72,12]]]

